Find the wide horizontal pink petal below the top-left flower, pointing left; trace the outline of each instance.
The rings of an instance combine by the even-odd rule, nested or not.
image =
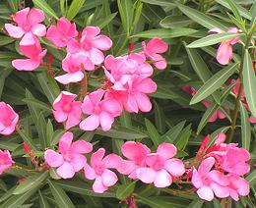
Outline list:
[[[40,62],[32,59],[15,59],[12,61],[12,66],[18,71],[34,71],[39,65]]]

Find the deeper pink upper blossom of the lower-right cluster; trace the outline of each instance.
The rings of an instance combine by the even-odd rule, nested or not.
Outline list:
[[[224,139],[224,133],[219,133],[214,147],[208,149],[207,156],[215,157],[224,172],[237,176],[249,173],[250,165],[247,162],[250,160],[250,153],[244,148],[237,147],[235,143],[224,143]]]

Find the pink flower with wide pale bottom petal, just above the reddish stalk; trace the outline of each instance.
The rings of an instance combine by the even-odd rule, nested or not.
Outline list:
[[[84,78],[82,64],[84,64],[85,60],[87,60],[87,56],[84,53],[68,53],[66,58],[62,60],[62,69],[67,74],[58,76],[55,79],[62,84],[81,81]]]

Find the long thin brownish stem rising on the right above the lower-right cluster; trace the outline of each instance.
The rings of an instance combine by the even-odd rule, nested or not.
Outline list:
[[[232,141],[233,135],[234,135],[235,124],[236,124],[236,120],[237,120],[238,109],[239,109],[239,104],[240,104],[240,99],[241,99],[242,89],[243,89],[243,78],[242,78],[242,71],[243,71],[243,64],[244,64],[243,60],[244,60],[245,50],[248,49],[248,47],[250,45],[251,36],[252,36],[255,28],[256,28],[256,25],[254,25],[252,27],[252,29],[250,30],[250,32],[247,34],[246,40],[245,40],[245,45],[242,50],[241,63],[240,63],[240,68],[239,68],[239,79],[240,79],[239,91],[238,91],[237,97],[235,99],[235,106],[234,106],[234,110],[231,115],[231,127],[230,127],[230,131],[228,133],[227,139],[226,139],[227,143],[230,143]]]

